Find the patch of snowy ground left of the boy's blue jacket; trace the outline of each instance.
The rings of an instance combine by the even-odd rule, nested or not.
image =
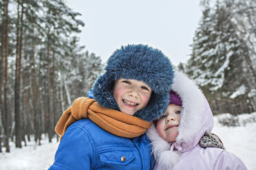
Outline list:
[[[0,169],[48,169],[54,162],[54,154],[58,147],[56,138],[52,141],[48,143],[47,138],[44,138],[40,146],[31,141],[22,149],[15,148],[15,144],[10,142],[10,153],[0,153]]]

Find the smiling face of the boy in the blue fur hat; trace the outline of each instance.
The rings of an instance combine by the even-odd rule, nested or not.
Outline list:
[[[132,116],[147,106],[151,92],[151,88],[144,82],[120,78],[114,84],[113,96],[120,111]]]

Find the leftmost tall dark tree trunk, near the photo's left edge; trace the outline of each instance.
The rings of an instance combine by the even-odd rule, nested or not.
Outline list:
[[[5,134],[5,147],[6,152],[10,152],[9,146],[9,112],[8,112],[8,43],[9,43],[9,24],[8,24],[8,0],[4,1],[4,13],[3,13],[3,27],[5,29],[5,47],[4,47],[4,57],[5,57],[5,82],[4,82],[4,89],[3,89],[3,129]]]

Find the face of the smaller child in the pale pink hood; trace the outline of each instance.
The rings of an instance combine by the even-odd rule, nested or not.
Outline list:
[[[162,117],[158,119],[156,129],[164,141],[173,143],[178,136],[178,126],[180,125],[181,107],[175,104],[169,104]]]

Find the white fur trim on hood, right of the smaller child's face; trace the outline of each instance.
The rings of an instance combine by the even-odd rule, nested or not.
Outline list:
[[[180,95],[183,108],[175,145],[181,147],[182,151],[186,151],[191,145],[199,142],[195,141],[195,136],[202,128],[204,95],[198,86],[180,71],[175,71],[174,84],[171,89]]]

